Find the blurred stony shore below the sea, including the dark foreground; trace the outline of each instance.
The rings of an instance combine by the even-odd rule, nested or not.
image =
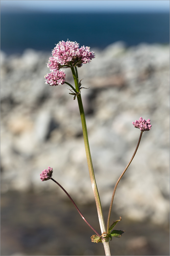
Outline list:
[[[117,228],[127,231],[112,240],[114,255],[168,255],[169,45],[127,48],[116,42],[92,50],[95,59],[78,68],[78,74],[82,86],[89,88],[81,95],[105,220],[115,183],[139,139],[140,130],[132,121],[142,116],[152,124],[116,190],[111,221],[122,216],[125,224],[121,221]],[[33,49],[21,55],[1,52],[1,234],[3,241],[8,239],[2,255],[103,255],[102,246],[91,243],[88,226],[84,239],[89,247],[74,249],[75,232],[80,243],[86,243],[85,224],[55,183],[40,180],[41,171],[53,167],[53,178],[99,230],[77,99],[66,84],[45,85],[50,56],[51,52]],[[66,81],[74,85],[70,70],[65,73]],[[66,251],[60,250],[60,240],[56,244],[57,234],[64,237],[63,230],[73,240]],[[33,239],[31,232],[38,232],[37,237]],[[49,244],[54,249],[50,254]],[[41,250],[36,251],[36,245]]]

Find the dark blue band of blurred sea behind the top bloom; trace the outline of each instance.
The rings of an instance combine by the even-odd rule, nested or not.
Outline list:
[[[67,38],[103,49],[116,41],[169,43],[169,13],[1,13],[1,49],[51,51]]]

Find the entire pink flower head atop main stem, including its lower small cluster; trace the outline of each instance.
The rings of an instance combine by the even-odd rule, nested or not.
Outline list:
[[[58,73],[58,70],[62,66],[70,66],[76,63],[78,67],[82,66],[83,63],[90,63],[95,58],[93,51],[90,51],[90,47],[82,46],[79,48],[79,44],[71,41],[60,41],[56,47],[52,50],[53,57],[50,57],[47,63],[47,67],[52,71],[50,74],[45,76],[46,84],[58,85],[65,83],[65,74]],[[64,71],[63,71],[64,72]]]

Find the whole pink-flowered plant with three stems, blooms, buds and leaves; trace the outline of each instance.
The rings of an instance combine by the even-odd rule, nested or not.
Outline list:
[[[51,73],[46,74],[46,76],[44,77],[45,84],[50,84],[50,86],[67,84],[68,86],[71,87],[71,89],[70,89],[71,93],[69,93],[69,94],[74,95],[74,100],[77,97],[78,106],[79,106],[79,110],[80,110],[80,117],[81,117],[81,123],[82,123],[82,131],[83,131],[83,137],[84,137],[84,145],[85,145],[85,150],[86,150],[90,180],[91,180],[94,198],[95,198],[95,202],[96,202],[96,207],[97,207],[97,211],[98,211],[98,218],[99,218],[99,223],[100,223],[101,234],[98,233],[90,225],[90,223],[84,218],[84,216],[78,209],[77,205],[75,204],[74,200],[70,197],[70,195],[67,193],[67,191],[58,182],[56,182],[52,178],[53,168],[48,167],[48,169],[43,170],[42,173],[40,174],[40,179],[42,181],[51,179],[60,188],[62,188],[64,190],[64,192],[67,194],[67,196],[70,198],[70,200],[76,207],[80,216],[88,224],[88,226],[95,232],[95,235],[91,236],[91,241],[94,243],[102,242],[103,246],[104,246],[104,250],[105,250],[105,255],[111,255],[110,247],[109,247],[109,240],[112,240],[112,237],[119,238],[125,232],[124,230],[114,230],[115,225],[120,220],[122,220],[121,217],[119,220],[114,221],[112,223],[112,225],[110,225],[111,209],[112,209],[112,205],[113,205],[115,191],[116,191],[116,188],[117,188],[117,185],[118,185],[120,179],[126,172],[127,168],[129,167],[130,163],[132,162],[132,160],[137,152],[142,133],[144,131],[149,131],[151,129],[152,125],[150,124],[150,119],[145,121],[145,119],[142,119],[142,117],[140,117],[139,120],[132,122],[134,127],[139,128],[141,131],[139,141],[137,143],[137,147],[135,149],[135,152],[133,153],[132,158],[130,159],[130,161],[129,161],[128,165],[126,166],[125,170],[123,171],[123,173],[120,175],[120,177],[114,187],[111,204],[110,204],[110,208],[109,208],[109,212],[108,212],[107,227],[105,228],[100,197],[99,197],[98,188],[97,188],[96,181],[95,181],[92,159],[91,159],[91,154],[90,154],[90,147],[89,147],[89,141],[88,141],[87,127],[86,127],[86,119],[85,119],[83,104],[82,104],[82,100],[81,100],[81,89],[83,87],[81,87],[81,81],[79,81],[79,79],[78,79],[78,72],[77,72],[77,67],[81,67],[82,64],[90,63],[91,60],[93,58],[95,58],[95,54],[93,51],[90,51],[90,47],[81,46],[79,48],[79,44],[77,42],[71,42],[71,41],[67,40],[66,42],[60,41],[56,45],[56,47],[52,50],[52,56],[53,57],[50,57],[49,61],[47,63],[47,67],[50,69]],[[71,68],[75,86],[72,86],[70,83],[66,82],[66,80],[65,80],[66,75],[64,73],[65,71],[61,68]],[[61,71],[59,71],[60,69],[61,69]]]

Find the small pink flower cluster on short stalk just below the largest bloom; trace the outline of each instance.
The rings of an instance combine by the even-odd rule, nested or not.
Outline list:
[[[56,86],[65,83],[66,74],[64,73],[64,70],[53,70],[50,74],[47,73],[44,78],[46,79],[45,84],[49,83],[52,86]]]

